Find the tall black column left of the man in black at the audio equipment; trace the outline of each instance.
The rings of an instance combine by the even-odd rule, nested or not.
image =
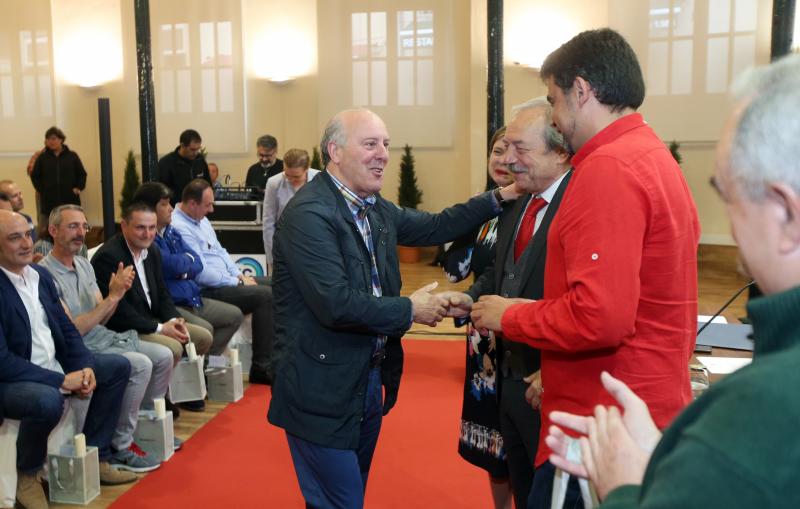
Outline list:
[[[136,12],[136,68],[139,77],[139,134],[142,139],[142,182],[158,178],[156,102],[150,44],[150,2],[133,0]]]

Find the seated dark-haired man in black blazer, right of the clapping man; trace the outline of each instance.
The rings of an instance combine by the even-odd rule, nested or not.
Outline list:
[[[92,257],[97,286],[103,297],[119,262],[133,265],[136,279],[117,305],[106,327],[117,332],[136,330],[139,338],[172,350],[177,363],[191,339],[197,353],[211,348],[211,332],[186,323],[172,302],[161,266],[161,252],[153,245],[156,213],[145,203],[134,203],[122,214],[122,233],[111,237]]]

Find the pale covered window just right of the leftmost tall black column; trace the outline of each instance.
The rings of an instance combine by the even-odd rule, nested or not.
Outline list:
[[[239,2],[173,0],[151,9],[159,151],[187,128],[212,157],[246,150]]]

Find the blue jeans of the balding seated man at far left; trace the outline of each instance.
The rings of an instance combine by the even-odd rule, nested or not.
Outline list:
[[[111,457],[111,437],[119,419],[131,365],[121,355],[95,354],[97,389],[92,394],[83,433],[97,447],[101,461]],[[32,474],[47,458],[47,437],[61,419],[64,395],[36,382],[0,383],[0,415],[20,421],[17,469]]]

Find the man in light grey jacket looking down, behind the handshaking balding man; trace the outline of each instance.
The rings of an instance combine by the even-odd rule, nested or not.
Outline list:
[[[264,254],[267,256],[267,273],[272,274],[272,237],[283,209],[306,182],[319,170],[308,167],[308,152],[301,148],[289,149],[283,156],[284,170],[267,180],[264,190]]]

